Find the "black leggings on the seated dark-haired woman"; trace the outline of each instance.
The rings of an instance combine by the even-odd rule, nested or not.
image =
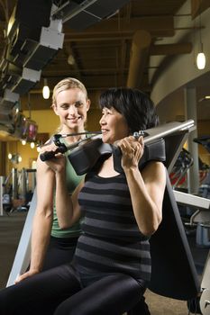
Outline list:
[[[0,291],[0,315],[122,315],[144,291],[143,281],[120,273],[83,288],[75,268],[64,265]]]

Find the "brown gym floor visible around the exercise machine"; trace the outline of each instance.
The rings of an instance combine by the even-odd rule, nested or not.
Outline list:
[[[4,288],[14,262],[14,256],[23,230],[27,212],[14,211],[0,216],[0,289]],[[196,247],[195,234],[187,236],[197,273],[201,276],[208,248]],[[151,315],[188,315],[187,302],[169,299],[147,290],[145,293]],[[140,314],[141,315],[141,314]]]

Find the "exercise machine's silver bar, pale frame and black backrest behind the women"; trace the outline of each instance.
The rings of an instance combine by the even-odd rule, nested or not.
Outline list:
[[[151,143],[155,139],[165,139],[165,165],[168,172],[170,172],[180,149],[187,139],[188,132],[194,129],[194,121],[192,120],[184,122],[174,121],[151,130],[145,130],[147,136],[144,141],[146,144]],[[36,197],[34,193],[7,286],[14,284],[17,275],[23,273],[25,266],[29,265],[30,250],[28,248],[30,247],[32,217],[35,206]],[[169,177],[163,208],[163,220],[160,224],[160,229],[151,237],[153,272],[150,289],[160,295],[179,300],[195,298],[200,292],[196,267],[188,247],[187,237],[180,220]],[[167,244],[173,244],[173,246],[171,247]],[[175,264],[172,264],[173,262]]]

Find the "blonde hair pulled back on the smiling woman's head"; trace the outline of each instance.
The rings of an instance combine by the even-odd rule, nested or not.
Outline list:
[[[87,89],[86,86],[83,85],[78,79],[74,77],[66,77],[65,79],[59,81],[57,85],[55,85],[52,93],[52,103],[57,104],[56,98],[59,92],[66,91],[69,88],[79,88],[87,97]]]

